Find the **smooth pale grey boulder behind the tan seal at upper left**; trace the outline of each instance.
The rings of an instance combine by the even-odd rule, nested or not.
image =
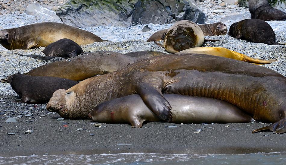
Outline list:
[[[29,4],[25,10],[25,13],[29,15],[35,15],[38,17],[46,17],[50,20],[60,19],[57,16],[56,12],[52,11],[51,9],[48,9],[46,6],[43,6],[37,3]]]

